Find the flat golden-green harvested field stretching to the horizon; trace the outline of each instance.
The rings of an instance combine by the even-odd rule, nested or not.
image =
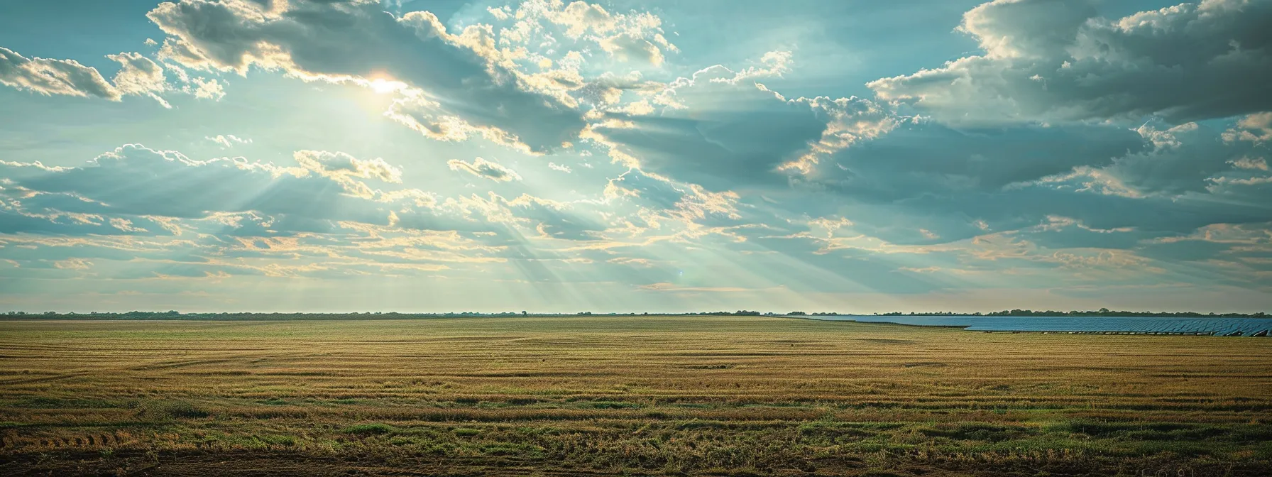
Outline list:
[[[0,474],[1272,474],[1272,340],[0,322]]]

